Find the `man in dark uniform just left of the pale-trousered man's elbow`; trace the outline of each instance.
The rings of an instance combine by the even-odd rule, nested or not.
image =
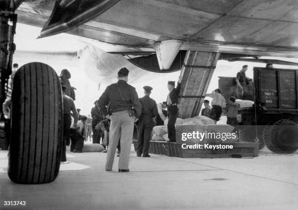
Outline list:
[[[94,107],[91,109],[92,116],[92,132],[93,132],[93,144],[100,144],[100,137],[102,132],[100,130],[95,129],[95,126],[103,120],[103,115],[101,114],[98,104],[98,100],[94,102]]]

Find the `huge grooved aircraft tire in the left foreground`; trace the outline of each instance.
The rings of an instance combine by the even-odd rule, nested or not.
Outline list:
[[[59,78],[46,64],[25,64],[13,83],[9,178],[19,184],[54,181],[60,167],[62,138]]]

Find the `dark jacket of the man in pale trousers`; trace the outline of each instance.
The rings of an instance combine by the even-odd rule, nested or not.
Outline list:
[[[122,98],[122,96],[123,98]],[[110,104],[111,113],[135,109],[135,117],[139,118],[142,106],[135,88],[126,81],[119,80],[109,85],[105,92],[98,99],[99,108],[102,113],[108,115],[107,106]]]

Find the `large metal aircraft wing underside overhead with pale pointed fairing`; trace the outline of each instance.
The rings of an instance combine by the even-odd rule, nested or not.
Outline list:
[[[25,0],[17,14],[40,37],[66,32],[139,57],[146,48],[162,70],[179,50],[298,56],[297,0]]]

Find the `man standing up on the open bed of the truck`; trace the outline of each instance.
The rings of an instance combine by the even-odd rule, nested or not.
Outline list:
[[[248,78],[245,75],[247,68],[248,68],[248,65],[242,66],[241,71],[238,72],[236,76],[236,83],[237,83],[236,92],[237,92],[238,99],[242,99],[242,100],[245,99],[247,84],[249,84],[249,81],[252,81],[251,78]]]

